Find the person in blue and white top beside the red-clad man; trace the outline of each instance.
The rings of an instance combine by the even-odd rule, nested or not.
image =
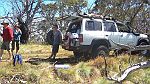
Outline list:
[[[12,52],[12,55],[13,55],[13,50],[15,49],[16,47],[16,54],[18,53],[19,51],[19,45],[20,45],[20,37],[22,35],[22,32],[19,28],[20,26],[18,25],[15,25],[14,29],[13,29],[13,35],[14,35],[14,39],[12,41],[12,49],[11,49],[11,52]]]

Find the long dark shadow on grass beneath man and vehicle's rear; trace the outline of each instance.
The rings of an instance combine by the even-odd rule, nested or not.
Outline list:
[[[43,62],[49,62],[50,64],[57,62],[56,64],[72,64],[72,65],[74,65],[81,61],[86,62],[91,59],[94,59],[94,58],[83,57],[83,56],[81,56],[81,57],[69,56],[67,58],[56,58],[56,59],[30,58],[29,60],[27,60],[25,62],[31,63],[33,65],[39,65],[40,63],[43,63]]]

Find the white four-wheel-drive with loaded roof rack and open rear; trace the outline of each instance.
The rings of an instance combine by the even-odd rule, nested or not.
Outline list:
[[[120,48],[115,43],[124,45],[149,45],[148,36],[135,33],[128,25],[101,16],[78,16],[64,35],[62,47],[73,51],[75,56],[109,55]],[[113,43],[115,42],[115,43]],[[147,55],[148,50],[143,54]]]

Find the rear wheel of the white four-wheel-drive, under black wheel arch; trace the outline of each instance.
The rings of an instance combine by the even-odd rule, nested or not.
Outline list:
[[[106,46],[99,46],[96,50],[92,50],[92,56],[109,56],[109,49]]]

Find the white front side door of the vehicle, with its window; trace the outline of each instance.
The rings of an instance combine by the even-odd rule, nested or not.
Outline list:
[[[136,41],[137,36],[135,36],[131,32],[131,30],[124,24],[117,23],[117,27],[118,27],[118,30],[120,32],[119,43],[125,44],[125,45],[135,46],[136,42],[137,42]]]

